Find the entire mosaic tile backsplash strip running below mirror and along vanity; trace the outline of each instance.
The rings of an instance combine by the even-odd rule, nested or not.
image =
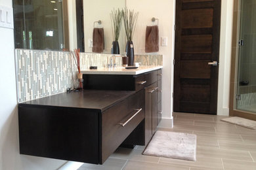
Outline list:
[[[122,65],[120,56],[111,54],[80,53],[81,70],[90,66],[106,67],[110,60]],[[66,92],[74,86],[77,69],[70,52],[45,50],[15,50],[18,103]],[[162,55],[138,55],[141,65],[163,65]]]

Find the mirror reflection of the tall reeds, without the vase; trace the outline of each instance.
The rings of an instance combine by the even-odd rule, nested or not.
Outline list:
[[[122,25],[122,18],[123,18],[123,13],[121,10],[112,10],[110,13],[110,18],[112,22],[112,35],[114,41],[118,41],[120,31],[121,31],[121,25]]]

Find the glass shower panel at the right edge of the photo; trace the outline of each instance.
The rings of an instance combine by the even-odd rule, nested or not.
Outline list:
[[[256,1],[241,0],[236,109],[256,112]]]

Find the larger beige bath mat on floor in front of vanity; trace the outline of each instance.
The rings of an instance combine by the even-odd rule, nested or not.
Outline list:
[[[156,131],[142,154],[196,161],[196,135]]]

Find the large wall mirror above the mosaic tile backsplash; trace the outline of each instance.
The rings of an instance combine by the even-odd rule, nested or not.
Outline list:
[[[60,51],[80,48],[92,52],[93,29],[97,27],[104,29],[102,53],[110,54],[114,41],[110,12],[124,7],[125,0],[14,0],[15,48]],[[98,20],[101,24],[95,24]],[[119,47],[123,54],[123,27]]]

